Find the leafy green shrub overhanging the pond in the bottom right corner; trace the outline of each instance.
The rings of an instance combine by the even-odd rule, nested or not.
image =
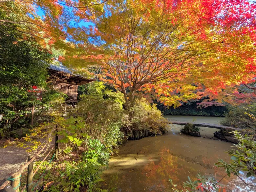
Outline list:
[[[239,140],[238,144],[234,144],[235,149],[231,149],[228,152],[231,157],[230,162],[225,162],[223,159],[219,159],[218,163],[215,165],[218,167],[223,167],[225,172],[230,177],[231,174],[238,176],[241,181],[245,184],[248,184],[249,187],[253,185],[251,183],[246,183],[245,178],[243,178],[243,172],[246,173],[246,177],[255,177],[256,176],[256,141],[249,135],[243,136],[238,131],[232,131],[234,137]],[[172,180],[169,179],[169,182],[172,185],[172,191],[182,192],[182,191],[220,191],[221,189],[225,189],[225,186],[221,186],[221,180],[216,181],[214,178],[206,178],[202,176],[200,173],[197,175],[196,181],[191,181],[188,177],[188,181],[184,182],[184,190],[176,189],[176,184],[172,183]],[[190,189],[190,190],[188,190]]]

